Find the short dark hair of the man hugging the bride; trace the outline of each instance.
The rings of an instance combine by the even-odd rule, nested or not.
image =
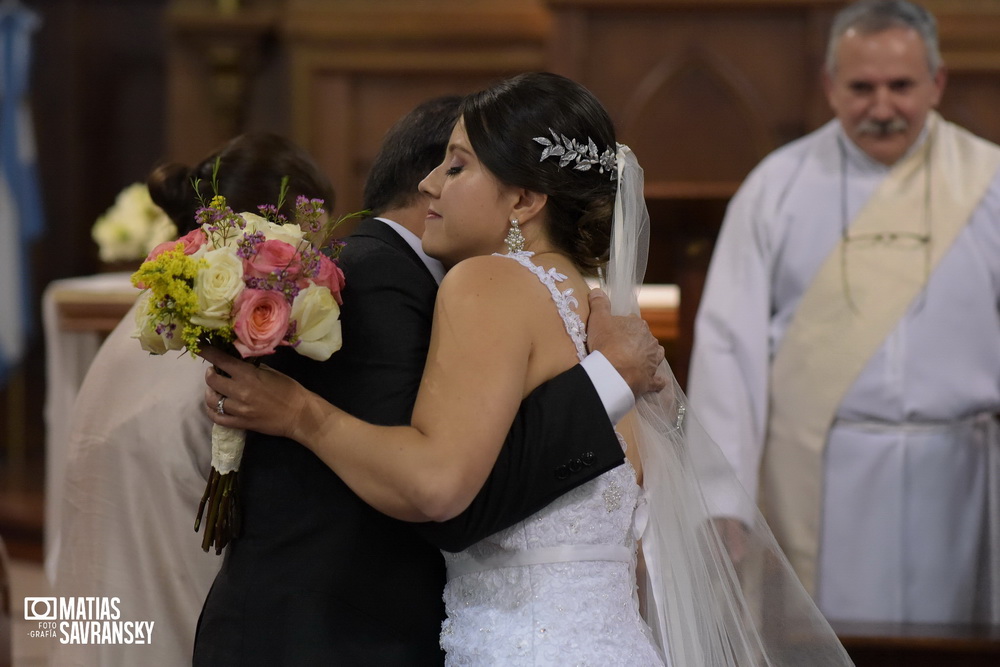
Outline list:
[[[461,102],[459,95],[435,97],[389,129],[365,179],[363,205],[372,215],[413,203],[420,181],[444,160]]]

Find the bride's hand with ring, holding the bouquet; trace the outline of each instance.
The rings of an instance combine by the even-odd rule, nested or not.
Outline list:
[[[294,438],[308,391],[267,366],[254,366],[213,347],[200,356],[205,372],[205,409],[220,426]],[[221,371],[221,372],[220,372]]]

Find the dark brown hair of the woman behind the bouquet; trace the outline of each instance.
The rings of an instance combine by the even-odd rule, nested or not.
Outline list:
[[[146,179],[149,195],[183,234],[195,224],[200,194],[211,200],[212,169],[219,158],[219,194],[234,211],[256,212],[261,204],[278,203],[281,179],[288,177],[288,191],[281,212],[295,209],[299,195],[322,199],[332,211],[334,192],[330,180],[302,148],[271,132],[247,132],[229,140],[194,167],[176,162],[161,164]],[[200,179],[195,193],[193,179]]]

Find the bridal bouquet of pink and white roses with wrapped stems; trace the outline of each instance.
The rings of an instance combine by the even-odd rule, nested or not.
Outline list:
[[[278,213],[281,201],[259,207],[259,214],[236,213],[219,195],[202,202],[199,227],[158,245],[132,275],[144,290],[134,334],[142,349],[194,354],[214,345],[259,363],[289,346],[310,359],[328,359],[341,346],[344,286],[331,259],[342,244],[332,232],[358,214],[330,222],[322,204],[299,197],[289,222]],[[205,551],[214,545],[222,553],[239,531],[237,472],[245,439],[245,431],[212,428],[212,473],[195,518],[196,531],[205,518]]]

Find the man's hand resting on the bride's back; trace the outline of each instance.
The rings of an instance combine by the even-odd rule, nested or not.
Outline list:
[[[590,291],[587,348],[603,354],[641,396],[667,385],[664,351],[649,325],[638,315],[612,315],[611,302],[601,289]]]

